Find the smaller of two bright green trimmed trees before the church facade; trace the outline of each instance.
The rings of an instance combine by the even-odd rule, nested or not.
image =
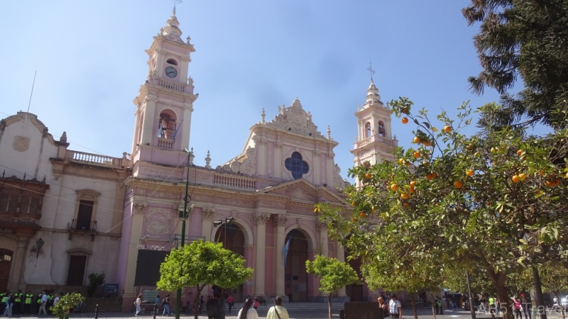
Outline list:
[[[349,264],[321,254],[318,254],[313,262],[306,260],[306,272],[320,276],[320,291],[328,293],[329,319],[332,319],[332,293],[346,285],[359,282],[359,276]]]

